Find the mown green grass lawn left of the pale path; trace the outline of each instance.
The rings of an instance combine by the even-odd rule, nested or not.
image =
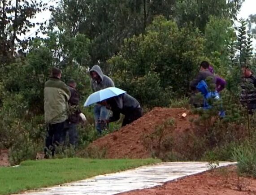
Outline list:
[[[160,162],[154,159],[82,159],[24,161],[18,167],[0,167],[0,194],[72,182]]]

